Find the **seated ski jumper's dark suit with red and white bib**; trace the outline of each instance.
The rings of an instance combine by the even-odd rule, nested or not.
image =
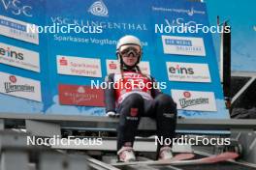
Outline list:
[[[105,90],[106,111],[120,114],[117,151],[122,146],[133,147],[141,117],[156,120],[156,134],[159,138],[175,137],[176,103],[170,96],[153,87],[156,82],[152,77],[136,70],[124,70],[122,74],[109,74],[105,81],[109,84],[109,88]],[[138,88],[140,84],[141,88]],[[158,142],[157,153],[160,147]]]

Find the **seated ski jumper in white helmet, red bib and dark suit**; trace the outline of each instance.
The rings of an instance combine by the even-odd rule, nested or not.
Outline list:
[[[117,156],[124,162],[136,160],[133,144],[141,117],[155,119],[159,138],[175,137],[176,103],[169,95],[153,87],[155,81],[150,75],[142,73],[138,66],[142,54],[142,43],[138,38],[122,37],[116,45],[120,73],[106,77],[110,84],[105,90],[106,112],[110,117],[119,115]],[[172,158],[171,147],[172,144],[158,143],[158,159]]]

